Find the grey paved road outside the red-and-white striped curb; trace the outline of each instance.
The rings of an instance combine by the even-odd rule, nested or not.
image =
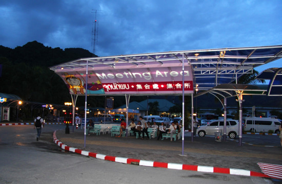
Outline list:
[[[139,167],[64,152],[52,140],[53,131],[62,128],[60,125],[47,125],[41,140],[36,142],[36,130],[30,125],[0,127],[0,183],[276,182],[258,177]],[[88,139],[90,137],[94,139],[98,136],[89,136]],[[132,141],[149,143],[154,140]]]

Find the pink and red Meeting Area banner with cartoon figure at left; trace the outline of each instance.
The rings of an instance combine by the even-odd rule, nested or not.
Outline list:
[[[88,94],[182,94],[183,75],[185,93],[193,93],[191,66],[134,67],[89,70]],[[60,75],[70,94],[83,95],[86,92],[85,71],[65,71]]]

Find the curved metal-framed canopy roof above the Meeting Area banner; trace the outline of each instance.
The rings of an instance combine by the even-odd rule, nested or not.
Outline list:
[[[180,66],[184,61],[192,68],[193,84],[198,84],[199,90],[207,90],[231,83],[243,74],[252,73],[253,68],[281,57],[282,45],[272,45],[81,58],[51,66],[50,70],[58,75],[70,71],[82,73],[88,66],[89,72],[94,73],[109,68]]]

